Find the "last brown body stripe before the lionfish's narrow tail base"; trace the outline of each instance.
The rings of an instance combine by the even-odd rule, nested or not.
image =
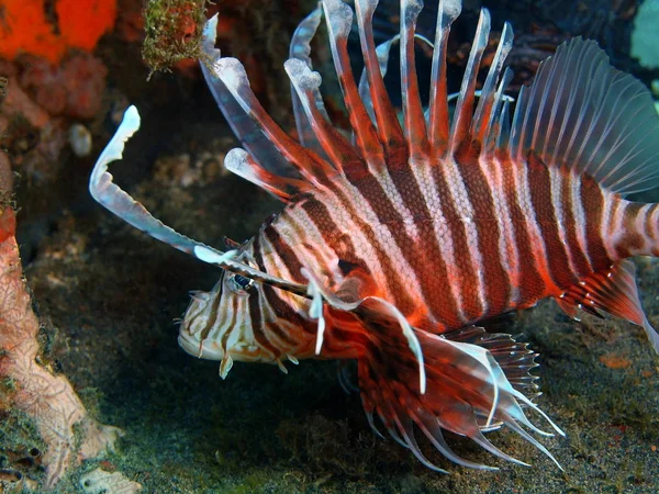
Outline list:
[[[589,177],[581,178],[580,199],[585,211],[585,243],[588,257],[593,271],[608,268],[613,260],[608,257],[602,238],[604,221],[604,195],[602,189]]]

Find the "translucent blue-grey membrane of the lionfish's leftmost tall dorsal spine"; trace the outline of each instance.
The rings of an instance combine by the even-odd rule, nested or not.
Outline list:
[[[220,50],[215,48],[216,33],[217,16],[214,15],[206,22],[203,29],[201,47],[206,59],[201,60],[200,66],[209,89],[217,102],[217,106],[220,106],[238,141],[241,141],[241,145],[249,151],[259,165],[267,167],[273,173],[297,176],[295,170],[272,146],[258,125],[241,108],[228,89],[226,89],[226,86],[224,86],[224,82],[222,82],[222,79],[209,68],[209,66],[212,66],[221,57]]]

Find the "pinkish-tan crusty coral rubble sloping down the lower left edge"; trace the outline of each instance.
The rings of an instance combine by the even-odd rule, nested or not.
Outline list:
[[[7,195],[7,193],[4,193]],[[32,310],[14,237],[13,210],[0,204],[0,377],[12,383],[9,402],[35,423],[47,445],[45,487],[72,463],[114,449],[121,430],[98,424],[64,375],[38,363],[40,323]],[[81,434],[78,440],[74,428]]]

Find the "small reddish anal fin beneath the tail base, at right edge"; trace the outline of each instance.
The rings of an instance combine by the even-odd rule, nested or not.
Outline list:
[[[560,297],[556,297],[556,301],[572,318],[577,316],[577,307],[595,315],[601,310],[643,326],[652,348],[659,353],[659,334],[643,311],[636,285],[636,266],[630,260],[616,262],[608,270],[592,273]]]

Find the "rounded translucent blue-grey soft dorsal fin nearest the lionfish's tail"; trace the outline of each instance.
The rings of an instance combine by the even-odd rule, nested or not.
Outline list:
[[[657,184],[659,115],[645,86],[608,64],[593,41],[573,38],[543,61],[520,93],[510,154],[585,173],[612,192]]]

